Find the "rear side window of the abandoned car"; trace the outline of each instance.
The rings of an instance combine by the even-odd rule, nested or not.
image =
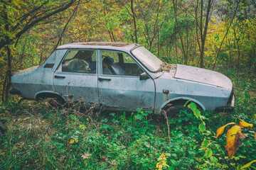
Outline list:
[[[62,72],[96,73],[95,50],[70,50],[62,62]]]

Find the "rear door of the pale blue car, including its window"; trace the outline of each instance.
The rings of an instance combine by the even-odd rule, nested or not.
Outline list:
[[[69,50],[53,76],[55,91],[65,101],[98,104],[97,51]]]

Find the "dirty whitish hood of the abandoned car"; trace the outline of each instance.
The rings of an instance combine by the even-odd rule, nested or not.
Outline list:
[[[232,89],[232,82],[225,75],[214,72],[208,69],[201,69],[198,67],[191,67],[182,64],[177,64],[176,79],[184,79],[188,81],[195,81],[203,84],[210,84],[225,89]]]

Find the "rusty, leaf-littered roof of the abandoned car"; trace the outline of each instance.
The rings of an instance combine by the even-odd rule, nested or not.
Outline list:
[[[105,50],[122,50],[130,51],[133,47],[138,47],[138,44],[129,42],[75,42],[66,45],[60,45],[57,50],[60,49],[105,49]]]

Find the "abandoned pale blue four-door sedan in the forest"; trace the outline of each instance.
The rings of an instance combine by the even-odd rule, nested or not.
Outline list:
[[[24,98],[82,101],[115,111],[161,114],[193,101],[202,111],[231,112],[235,103],[233,84],[223,74],[166,64],[142,45],[125,42],[61,45],[41,66],[13,74],[11,84],[10,93]]]

